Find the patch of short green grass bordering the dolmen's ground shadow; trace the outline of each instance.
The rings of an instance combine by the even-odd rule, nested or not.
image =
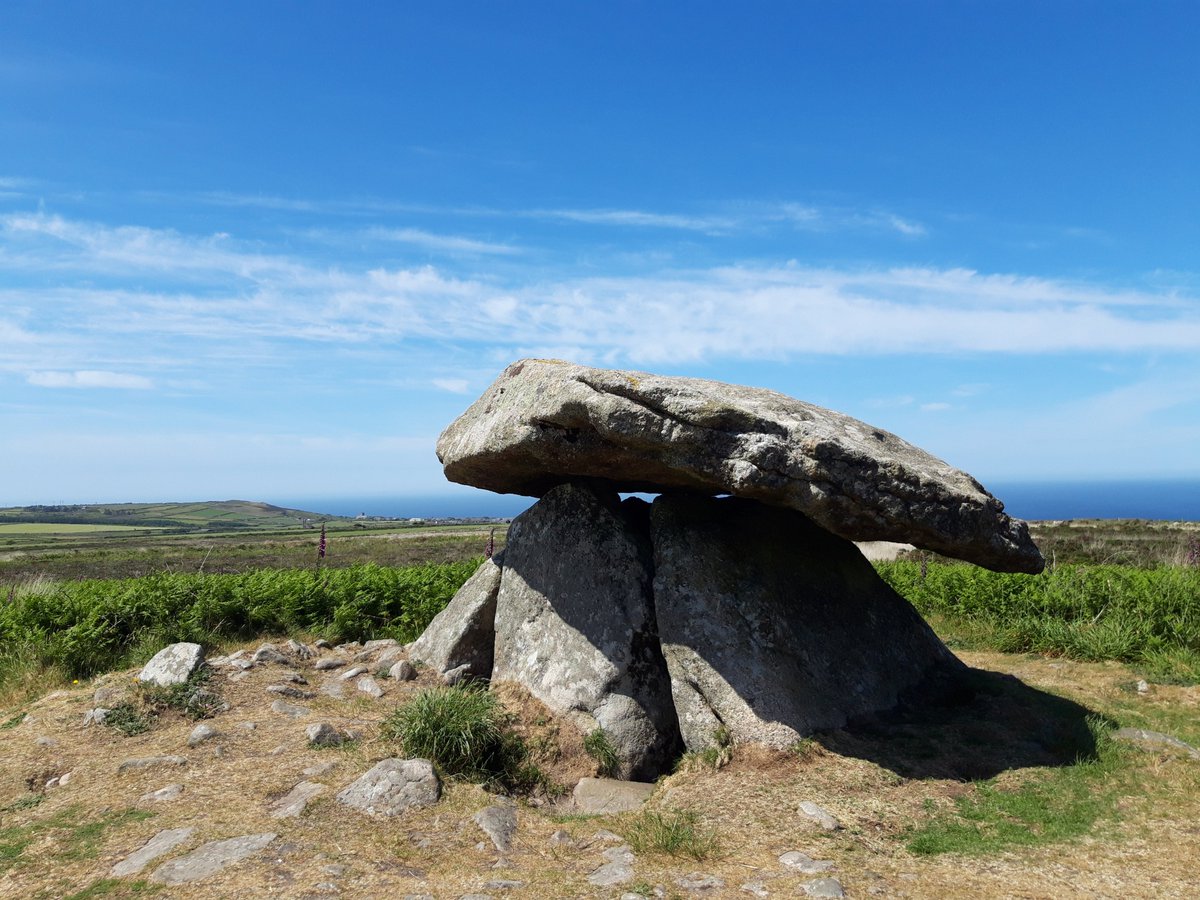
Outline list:
[[[1112,742],[1104,724],[1093,720],[1092,732],[1093,758],[1040,772],[1010,790],[995,780],[978,782],[953,810],[935,811],[926,803],[934,815],[908,830],[907,848],[918,856],[995,853],[1078,838],[1116,817],[1129,751]]]

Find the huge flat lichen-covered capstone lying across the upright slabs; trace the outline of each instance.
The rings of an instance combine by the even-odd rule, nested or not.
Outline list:
[[[728,493],[998,571],[1044,562],[965,472],[895,434],[761,388],[521,360],[438,439],[446,478],[541,497],[572,479]]]

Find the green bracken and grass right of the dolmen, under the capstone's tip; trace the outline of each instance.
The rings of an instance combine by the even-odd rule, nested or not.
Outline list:
[[[876,568],[952,644],[1120,660],[1156,680],[1200,682],[1200,568],[1060,565],[1042,575],[910,560]]]

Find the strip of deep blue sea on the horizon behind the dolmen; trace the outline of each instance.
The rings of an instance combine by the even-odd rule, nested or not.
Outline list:
[[[1009,515],[1050,518],[1165,518],[1200,522],[1200,480],[1162,481],[996,481],[984,482]],[[278,506],[334,516],[467,518],[517,516],[533,499],[514,494],[428,497],[284,497]]]

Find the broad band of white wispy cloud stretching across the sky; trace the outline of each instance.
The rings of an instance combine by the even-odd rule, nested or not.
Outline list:
[[[547,280],[532,268],[498,284],[434,266],[336,268],[222,235],[41,214],[0,218],[0,268],[26,284],[0,290],[5,319],[20,323],[17,337],[36,335],[37,353],[65,354],[54,356],[64,371],[115,368],[97,365],[96,354],[130,366],[151,355],[228,361],[234,344],[251,358],[283,355],[289,340],[569,350],[647,366],[804,354],[1200,352],[1200,304],[1177,289],[966,269],[790,264]]]

